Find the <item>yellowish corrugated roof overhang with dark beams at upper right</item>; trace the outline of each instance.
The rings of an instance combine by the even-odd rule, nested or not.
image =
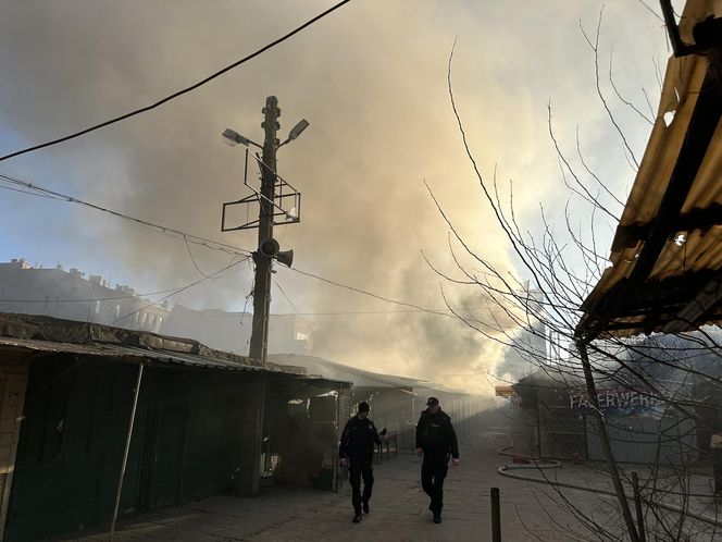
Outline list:
[[[688,0],[657,120],[575,336],[722,321],[722,1]]]

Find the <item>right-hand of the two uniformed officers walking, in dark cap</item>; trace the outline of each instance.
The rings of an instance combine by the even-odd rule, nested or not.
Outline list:
[[[436,397],[428,397],[426,410],[421,412],[416,424],[416,453],[424,456],[421,465],[421,486],[431,497],[428,509],[434,522],[441,522],[444,506],[444,478],[451,465],[459,466],[459,444],[451,418],[441,410]]]

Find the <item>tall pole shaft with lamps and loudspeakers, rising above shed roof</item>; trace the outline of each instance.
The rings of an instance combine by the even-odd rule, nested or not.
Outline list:
[[[265,131],[263,139],[263,165],[261,169],[261,198],[258,229],[258,250],[253,252],[256,263],[256,285],[253,286],[253,328],[251,330],[251,344],[249,355],[265,364],[269,349],[269,311],[271,309],[271,266],[272,257],[262,250],[263,242],[273,238],[273,200],[276,184],[276,149],[278,139],[276,133],[281,125],[278,118],[281,109],[278,99],[269,96],[263,108],[264,120],[261,127]]]

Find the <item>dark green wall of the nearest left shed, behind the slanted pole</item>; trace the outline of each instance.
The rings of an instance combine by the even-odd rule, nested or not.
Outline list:
[[[29,366],[5,535],[33,541],[109,522],[138,367],[54,355]],[[254,375],[146,370],[121,515],[228,490],[244,386]]]

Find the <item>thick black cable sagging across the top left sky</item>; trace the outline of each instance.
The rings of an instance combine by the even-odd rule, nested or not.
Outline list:
[[[152,110],[152,109],[155,109],[155,108],[162,106],[163,103],[166,103],[166,102],[169,102],[169,101],[171,101],[171,100],[173,100],[173,99],[175,99],[175,98],[178,98],[179,96],[183,96],[184,94],[190,93],[191,90],[196,90],[197,88],[199,88],[199,87],[206,85],[207,83],[209,83],[209,82],[213,81],[214,78],[216,78],[216,77],[223,75],[224,73],[229,72],[231,70],[233,70],[233,69],[235,69],[235,67],[238,67],[238,66],[241,65],[241,64],[245,64],[245,63],[248,62],[249,60],[254,59],[256,57],[258,57],[258,56],[261,54],[262,52],[267,51],[269,49],[271,49],[271,48],[277,46],[278,44],[282,44],[283,41],[286,41],[286,40],[289,39],[290,37],[295,36],[295,35],[298,34],[299,32],[306,29],[307,27],[311,26],[311,25],[312,25],[313,23],[315,23],[316,21],[320,21],[321,19],[325,17],[325,16],[328,15],[329,13],[336,11],[338,8],[340,8],[341,5],[344,5],[344,4],[346,4],[346,3],[350,2],[350,1],[351,1],[351,0],[343,0],[343,1],[338,2],[337,4],[335,4],[335,5],[333,5],[332,8],[327,9],[327,10],[324,11],[323,13],[320,13],[319,15],[316,15],[316,16],[314,16],[313,19],[311,19],[311,20],[307,21],[306,23],[303,23],[301,26],[298,26],[298,27],[295,28],[294,30],[289,32],[289,33],[286,34],[285,36],[282,36],[282,37],[279,37],[278,39],[272,41],[271,44],[269,44],[269,45],[266,45],[266,46],[264,46],[264,47],[261,47],[261,48],[260,48],[259,50],[257,50],[256,52],[252,52],[252,53],[248,54],[247,57],[244,57],[242,59],[240,59],[240,60],[234,62],[233,64],[225,66],[223,70],[219,70],[217,72],[215,72],[215,73],[209,75],[209,76],[206,77],[204,79],[201,79],[201,81],[199,81],[198,83],[196,83],[196,84],[194,84],[194,85],[190,85],[190,86],[187,87],[187,88],[184,88],[183,90],[178,90],[177,93],[174,93],[174,94],[172,94],[171,96],[167,96],[167,97],[163,98],[162,100],[159,100],[159,101],[157,101],[157,102],[154,102],[154,103],[151,103],[150,106],[146,106],[146,107],[144,107],[144,108],[136,109],[135,111],[130,111],[129,113],[125,113],[125,114],[123,114],[123,115],[121,115],[121,116],[116,116],[116,118],[111,119],[111,120],[109,120],[109,121],[101,122],[100,124],[96,124],[96,125],[94,125],[94,126],[90,126],[90,127],[88,127],[88,128],[82,130],[82,131],[76,132],[76,133],[74,133],[74,134],[70,134],[70,135],[66,135],[66,136],[63,136],[63,137],[59,137],[58,139],[52,139],[52,140],[50,140],[50,141],[46,141],[46,143],[42,143],[42,144],[39,144],[39,145],[34,145],[34,146],[32,146],[32,147],[27,147],[27,148],[25,148],[25,149],[16,150],[16,151],[14,151],[14,152],[11,152],[10,155],[5,155],[5,156],[3,156],[3,157],[0,157],[0,162],[2,162],[2,161],[4,161],[4,160],[8,160],[8,159],[10,159],[10,158],[14,158],[14,157],[18,157],[18,156],[21,156],[21,155],[25,155],[25,153],[27,153],[27,152],[33,152],[34,150],[42,149],[42,148],[45,148],[45,147],[50,147],[51,145],[58,145],[59,143],[63,143],[63,141],[67,141],[67,140],[70,140],[70,139],[74,139],[74,138],[76,138],[76,137],[80,137],[82,135],[88,134],[88,133],[90,133],[90,132],[95,132],[96,130],[100,130],[100,128],[103,128],[103,127],[105,127],[105,126],[110,126],[111,124],[115,124],[115,123],[117,123],[117,122],[124,121],[124,120],[126,120],[126,119],[129,119],[130,116],[135,116],[135,115],[138,115],[138,114],[140,114],[140,113],[146,113],[146,112],[148,112],[148,111],[150,111],[150,110]]]

